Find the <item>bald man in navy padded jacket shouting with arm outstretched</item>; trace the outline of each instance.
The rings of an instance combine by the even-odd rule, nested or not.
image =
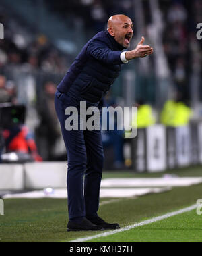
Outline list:
[[[119,76],[121,64],[153,53],[149,45],[143,45],[144,38],[134,50],[124,51],[129,47],[132,36],[133,23],[129,17],[110,17],[107,31],[99,32],[86,43],[57,86],[55,108],[68,157],[67,231],[119,228],[119,224],[109,224],[97,214],[104,157],[101,131],[66,130],[65,109],[74,106],[79,111],[80,101],[86,101],[86,107],[100,109],[102,98]]]

